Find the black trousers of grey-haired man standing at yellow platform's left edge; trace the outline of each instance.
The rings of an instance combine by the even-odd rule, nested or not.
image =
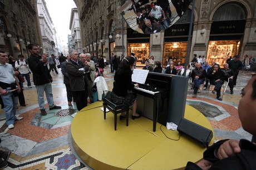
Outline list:
[[[83,107],[87,106],[88,86],[86,86],[85,90],[72,92],[76,96],[77,110],[80,111],[81,109],[83,109]]]

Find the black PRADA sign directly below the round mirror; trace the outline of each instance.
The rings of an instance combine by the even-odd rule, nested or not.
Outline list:
[[[174,24],[170,28],[165,29],[165,37],[180,36],[189,34],[189,24]]]

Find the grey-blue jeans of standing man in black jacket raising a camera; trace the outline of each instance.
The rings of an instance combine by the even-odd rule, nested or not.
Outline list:
[[[36,85],[36,91],[37,91],[37,101],[38,101],[40,110],[45,110],[45,99],[43,99],[43,91],[45,91],[46,99],[49,107],[51,108],[54,106],[51,83]]]

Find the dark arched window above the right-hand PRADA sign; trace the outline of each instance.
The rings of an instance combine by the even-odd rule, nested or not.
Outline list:
[[[237,3],[227,3],[219,7],[214,13],[213,20],[241,20],[247,18],[245,9]]]

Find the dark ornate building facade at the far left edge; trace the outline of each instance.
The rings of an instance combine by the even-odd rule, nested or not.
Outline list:
[[[40,46],[42,38],[37,16],[36,0],[0,1],[0,50],[15,59],[22,54],[28,57],[27,45]]]

